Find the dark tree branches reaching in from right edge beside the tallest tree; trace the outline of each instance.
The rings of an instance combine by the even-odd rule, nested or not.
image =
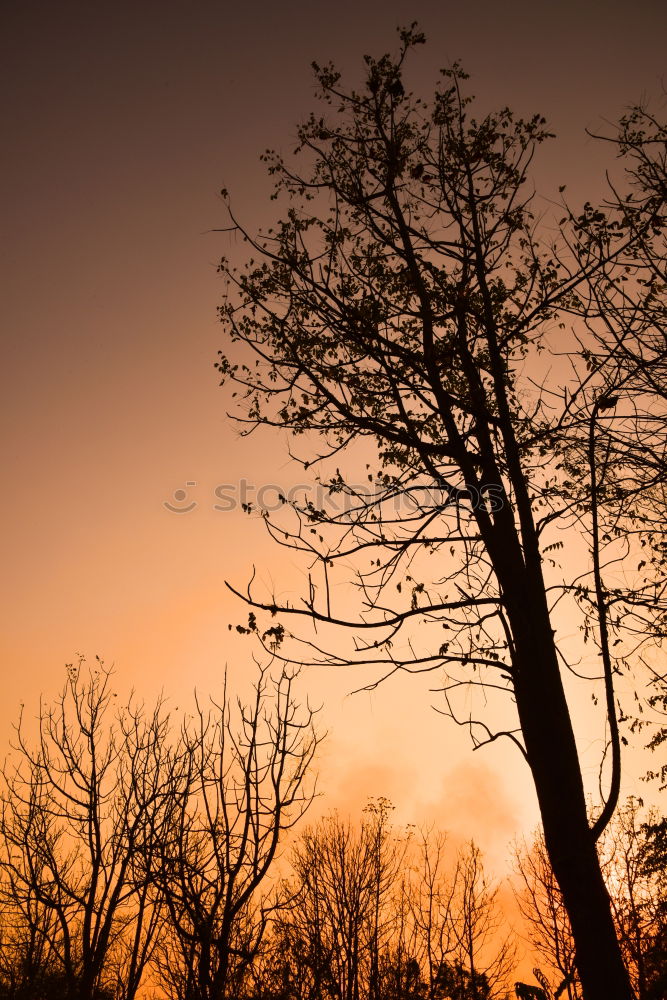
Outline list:
[[[667,634],[667,125],[647,106],[638,106],[621,118],[616,135],[602,138],[628,161],[630,190],[612,186],[603,210],[575,221],[570,244],[582,263],[596,262],[578,312],[588,332],[586,361],[602,376],[601,399],[608,402],[590,414],[591,458],[599,462],[605,456],[595,491],[598,547],[610,564],[614,548],[627,546],[631,537],[636,564],[630,600],[601,581],[599,600],[606,617],[616,612],[616,623],[625,619],[626,631],[631,624],[635,660],[648,640],[648,655],[642,657],[648,697],[636,695],[640,717],[634,727],[652,726],[649,747],[655,750],[667,739],[666,675],[655,656]],[[625,244],[620,257],[610,252],[619,240]],[[616,669],[623,666],[617,655]],[[652,776],[664,784],[667,767]]]

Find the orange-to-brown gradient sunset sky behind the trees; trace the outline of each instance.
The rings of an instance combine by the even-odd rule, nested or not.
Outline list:
[[[546,116],[547,198],[562,183],[598,197],[609,148],[586,129],[664,95],[666,17],[650,0],[3,5],[3,745],[19,705],[34,713],[79,654],[114,664],[119,691],[164,690],[181,711],[225,664],[240,688],[252,678],[225,580],[242,588],[255,565],[280,593],[297,570],[259,519],[216,509],[215,490],[285,492],[303,470],[280,433],[240,438],[218,387],[219,192],[260,225],[273,209],[259,154],[293,147],[311,61],[358,78],[412,20],[428,38],[416,88],[460,59],[482,105]],[[385,795],[401,821],[475,836],[498,863],[535,824],[516,752],[472,754],[432,711],[432,678],[355,696],[343,672],[302,683],[329,732],[323,801]],[[591,779],[600,736],[582,740]]]

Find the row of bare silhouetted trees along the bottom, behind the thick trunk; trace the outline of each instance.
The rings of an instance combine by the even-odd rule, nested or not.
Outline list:
[[[163,701],[119,704],[103,664],[70,666],[3,768],[0,997],[579,1000],[541,836],[516,845],[513,929],[479,848],[397,828],[385,798],[295,829],[318,742],[285,670],[176,723]],[[619,812],[602,866],[637,996],[659,1000],[667,824],[642,815]]]

